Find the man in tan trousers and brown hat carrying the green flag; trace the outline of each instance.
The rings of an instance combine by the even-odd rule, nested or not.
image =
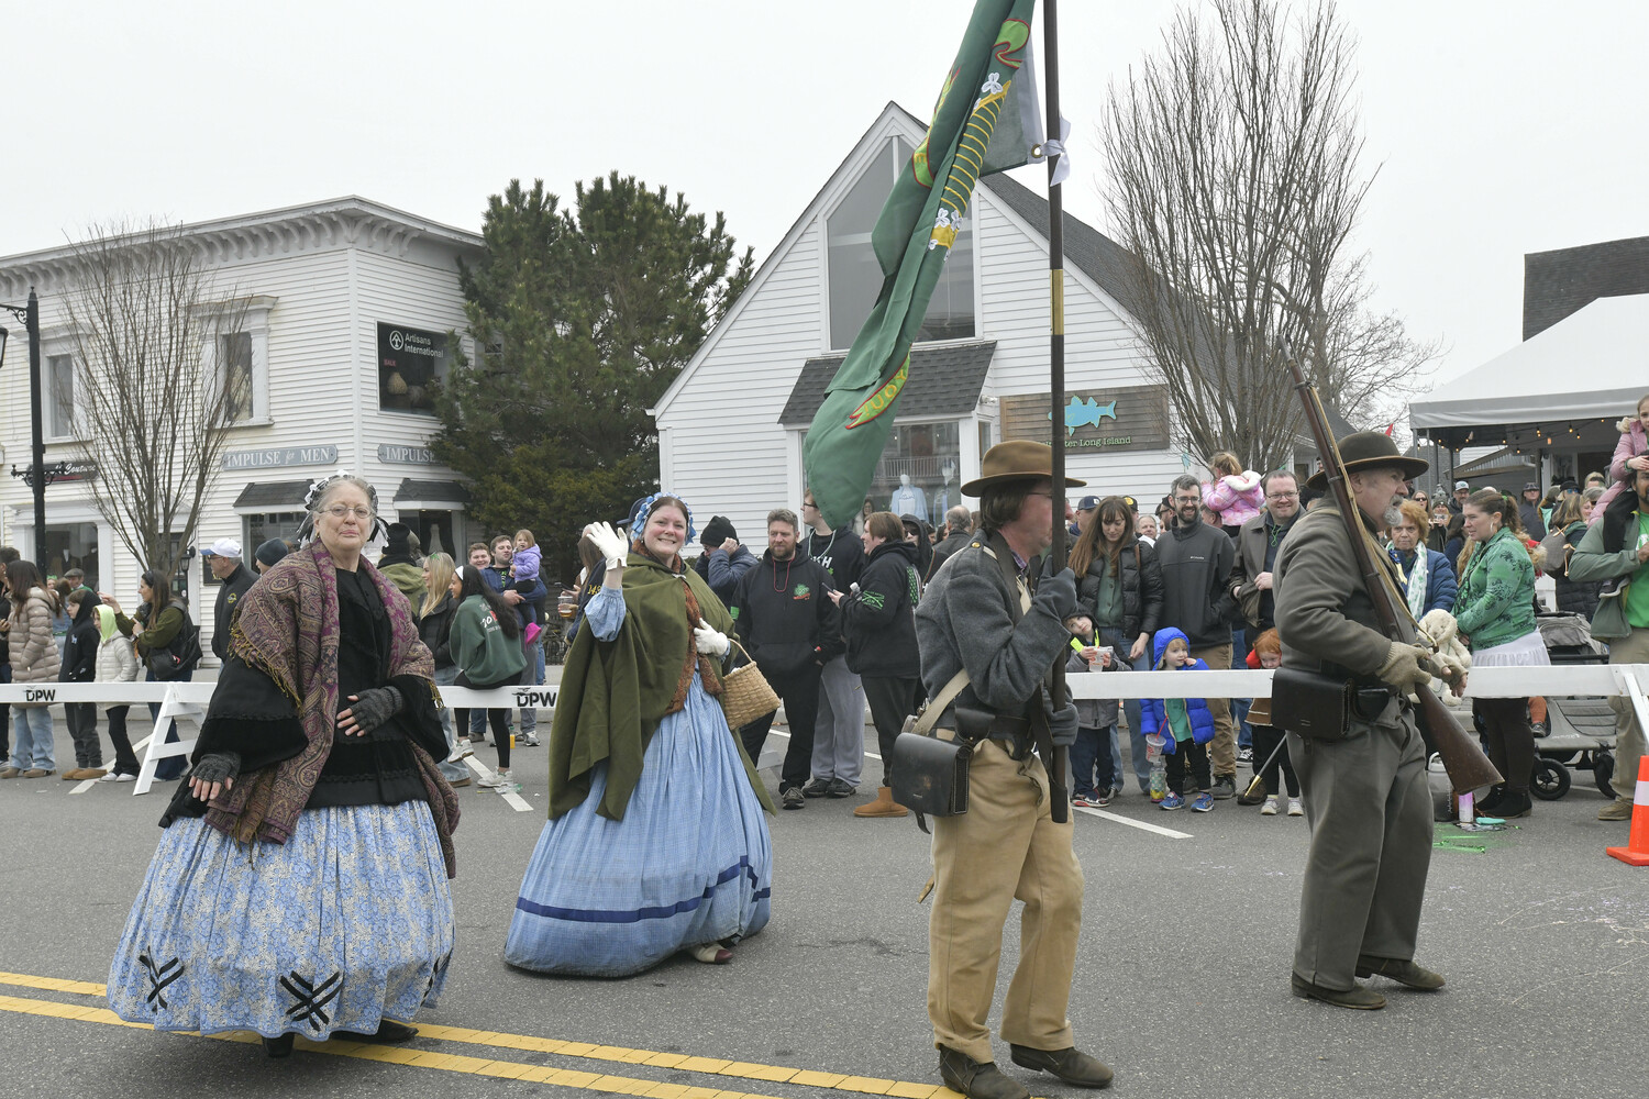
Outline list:
[[[1070,819],[1052,819],[1044,760],[1031,751],[1041,722],[1055,746],[1077,738],[1077,707],[1067,702],[1049,713],[1042,690],[1067,651],[1062,623],[1077,606],[1070,568],[1036,583],[1054,522],[1070,519],[1050,466],[1047,443],[1016,440],[986,451],[983,476],[961,486],[963,496],[980,498],[981,534],[933,573],[917,606],[928,697],[942,699],[958,672],[968,676],[937,722],[940,735],[953,738],[956,710],[970,713],[960,735],[975,748],[968,812],[933,821],[928,1018],[940,1078],[970,1099],[1031,1094],[996,1068],[986,1023],[1003,924],[1016,898],[1024,901],[1019,967],[1003,1005],[1014,1064],[1078,1087],[1111,1081],[1108,1068],[1075,1048],[1065,1017],[1082,926],[1082,865]]]

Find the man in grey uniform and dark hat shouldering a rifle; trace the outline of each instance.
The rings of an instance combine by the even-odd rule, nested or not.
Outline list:
[[[1364,527],[1372,534],[1382,522],[1395,524],[1403,479],[1426,463],[1398,455],[1380,432],[1346,437],[1341,453]],[[1309,486],[1322,491],[1327,479],[1318,473]],[[1385,554],[1374,560],[1390,568]],[[1413,684],[1431,682],[1431,667],[1412,623],[1403,623],[1402,641],[1380,631],[1332,498],[1283,540],[1275,585],[1283,667],[1357,687],[1344,740],[1288,733],[1311,822],[1291,987],[1298,997],[1339,1007],[1385,1007],[1385,997],[1355,977],[1379,974],[1423,990],[1443,985],[1413,961],[1431,862],[1431,793],[1426,750],[1403,697]]]

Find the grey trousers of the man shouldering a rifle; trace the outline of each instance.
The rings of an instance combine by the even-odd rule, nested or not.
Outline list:
[[[1397,702],[1346,740],[1288,735],[1311,825],[1294,972],[1355,985],[1359,954],[1412,961],[1431,865],[1431,791],[1415,718]]]

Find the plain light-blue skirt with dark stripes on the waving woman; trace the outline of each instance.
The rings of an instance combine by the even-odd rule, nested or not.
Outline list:
[[[646,746],[623,821],[584,804],[549,821],[521,882],[505,961],[628,977],[704,942],[747,938],[770,914],[773,852],[721,705],[694,676],[686,707]]]

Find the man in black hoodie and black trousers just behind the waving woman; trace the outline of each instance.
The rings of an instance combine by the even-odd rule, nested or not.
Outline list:
[[[788,507],[767,512],[767,552],[754,568],[739,577],[727,608],[739,626],[739,641],[785,702],[790,746],[778,776],[785,809],[805,804],[801,788],[813,766],[820,674],[843,651],[841,616],[826,595],[829,573],[816,560],[796,554],[798,526],[796,512]],[[762,758],[762,745],[772,725],[773,715],[768,713],[739,730],[752,765]],[[829,779],[826,794],[828,786]]]

